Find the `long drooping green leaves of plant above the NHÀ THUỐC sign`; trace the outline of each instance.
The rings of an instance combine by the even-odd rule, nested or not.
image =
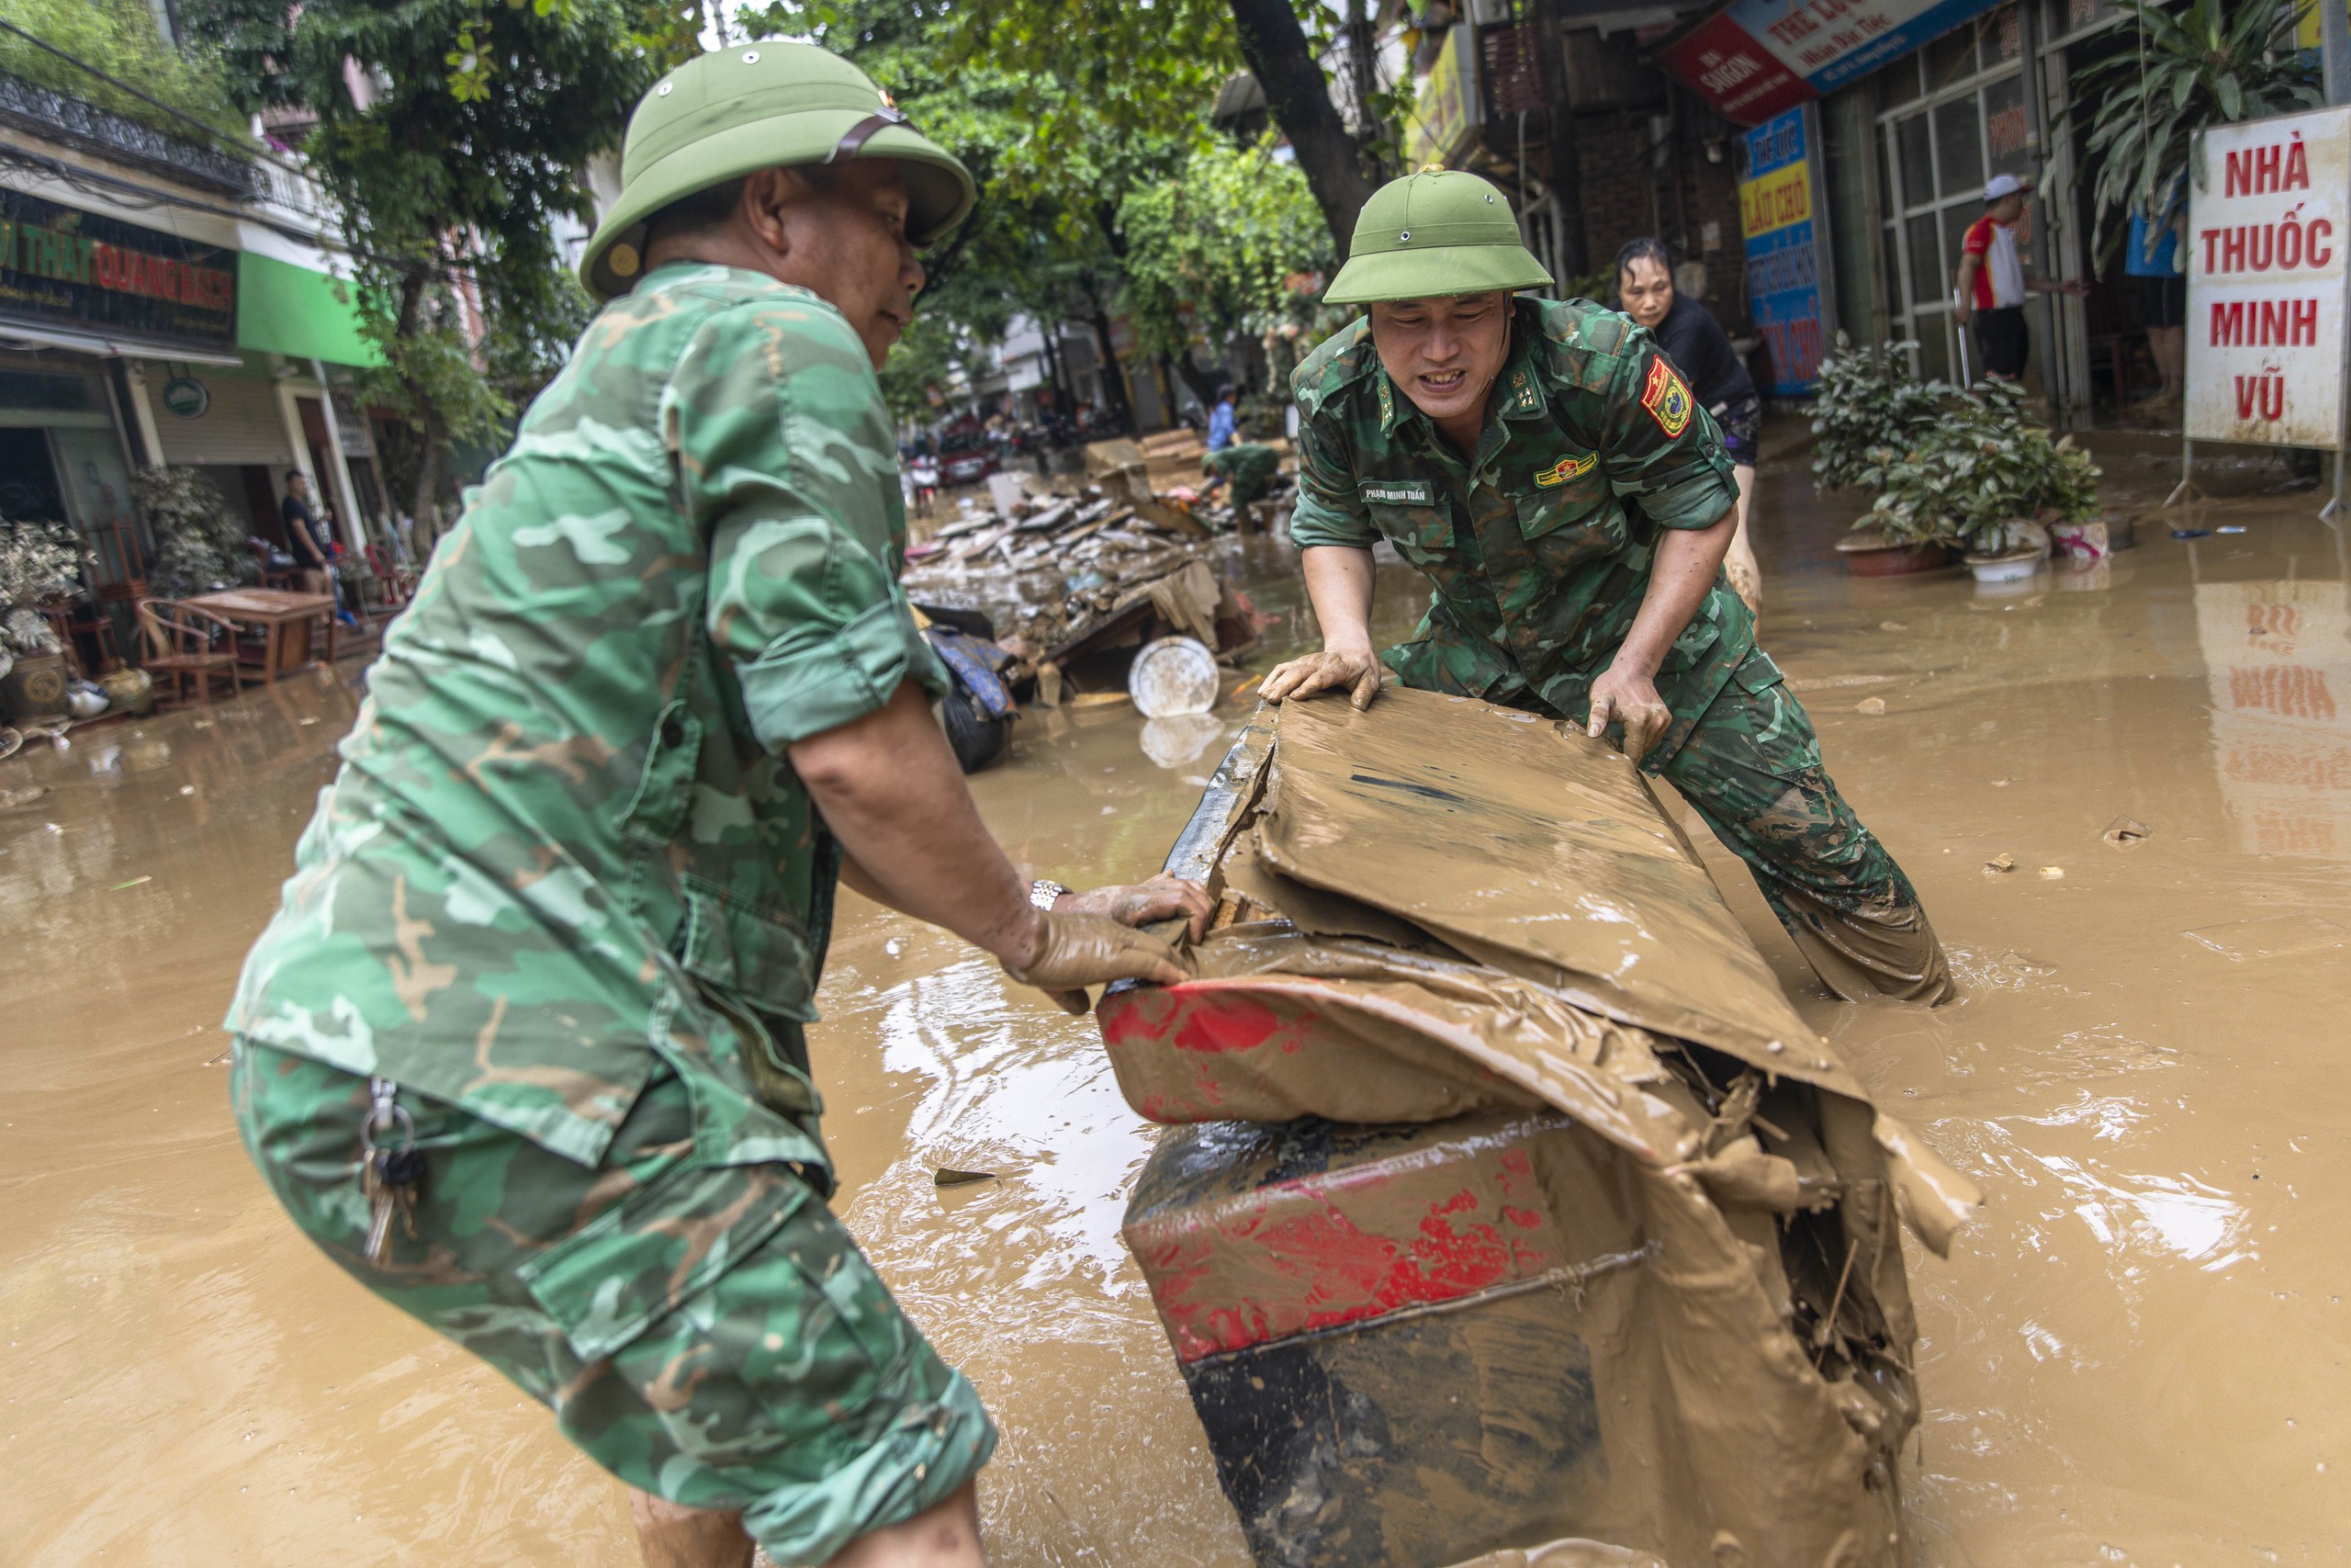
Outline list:
[[[2114,221],[2137,207],[2156,226],[2184,197],[2215,125],[2318,106],[2318,73],[2295,49],[2304,0],[2116,0],[2130,47],[2074,73],[2074,94],[2097,103],[2085,150],[2097,165],[2097,228],[2111,256]],[[2201,172],[2201,169],[2198,169]]]

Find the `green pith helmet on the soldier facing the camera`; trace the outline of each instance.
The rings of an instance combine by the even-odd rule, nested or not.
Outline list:
[[[1509,197],[1476,174],[1432,169],[1392,179],[1371,193],[1354,221],[1347,266],[1324,292],[1331,306],[1375,299],[1432,299],[1488,289],[1542,289],[1542,270]]]

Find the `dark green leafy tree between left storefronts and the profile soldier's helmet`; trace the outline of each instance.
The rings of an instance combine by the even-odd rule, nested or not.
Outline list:
[[[585,322],[555,219],[618,146],[675,45],[628,0],[181,0],[245,108],[317,115],[303,153],[334,200],[386,369],[414,423],[414,515],[449,442],[482,442]],[[360,82],[355,87],[353,82]],[[470,329],[480,301],[487,334]],[[400,456],[400,454],[395,454]]]

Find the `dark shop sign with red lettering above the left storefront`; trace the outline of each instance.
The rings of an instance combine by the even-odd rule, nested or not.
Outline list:
[[[0,317],[228,348],[237,252],[0,190]]]

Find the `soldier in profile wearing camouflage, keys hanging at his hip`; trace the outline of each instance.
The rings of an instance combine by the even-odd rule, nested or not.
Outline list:
[[[835,879],[1013,978],[1173,980],[1197,886],[1025,886],[929,715],[875,367],[964,167],[823,49],[630,122],[611,303],[369,670],[228,1016],[334,1262],[555,1410],[647,1561],[980,1563],[994,1429],[825,1208]]]

